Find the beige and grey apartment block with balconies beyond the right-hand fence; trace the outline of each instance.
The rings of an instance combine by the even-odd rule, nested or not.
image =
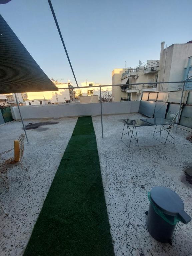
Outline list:
[[[140,100],[145,91],[174,91],[181,88],[182,83],[155,83],[183,81],[192,75],[192,41],[173,44],[165,49],[164,45],[165,42],[162,42],[160,60],[147,60],[145,65],[112,71],[112,101]],[[122,85],[118,87],[113,84]],[[191,82],[186,83],[186,87],[190,86]]]

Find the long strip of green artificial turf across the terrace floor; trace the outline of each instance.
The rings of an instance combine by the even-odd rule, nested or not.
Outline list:
[[[92,118],[79,117],[24,256],[112,256]]]

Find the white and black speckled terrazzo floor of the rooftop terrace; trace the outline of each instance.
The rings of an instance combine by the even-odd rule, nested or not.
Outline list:
[[[149,207],[148,191],[154,186],[165,186],[178,193],[185,211],[192,216],[192,185],[184,173],[192,166],[192,143],[185,139],[189,132],[178,129],[175,144],[163,145],[151,136],[154,126],[138,127],[139,147],[129,149],[121,141],[123,124],[118,120],[141,116],[103,116],[103,139],[100,116],[92,117],[115,255],[188,256],[192,252],[192,222],[180,222],[173,244],[162,244],[148,233],[145,211]],[[41,121],[46,120],[24,122]],[[30,143],[25,143],[23,163],[31,179],[16,168],[8,172],[9,190],[0,179],[0,200],[8,212],[7,217],[0,214],[1,256],[23,254],[77,118],[57,121],[58,124],[27,131]],[[0,130],[0,152],[11,149],[13,141],[23,133],[18,121],[3,124]],[[76,154],[74,147],[74,158]]]

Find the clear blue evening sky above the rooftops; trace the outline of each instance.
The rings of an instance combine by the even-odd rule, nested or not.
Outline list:
[[[52,0],[78,83],[111,84],[115,68],[159,59],[192,40],[191,0]],[[75,85],[47,0],[11,0],[0,14],[47,74]],[[125,63],[126,62],[126,63]]]

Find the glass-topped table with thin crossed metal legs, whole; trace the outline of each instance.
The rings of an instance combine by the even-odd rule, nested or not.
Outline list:
[[[122,135],[121,135],[121,140],[122,140],[122,137],[126,134],[128,134],[128,137],[129,137],[129,145],[127,145],[122,140],[123,143],[127,147],[130,147],[131,142],[139,147],[139,142],[138,142],[138,137],[137,137],[137,127],[141,127],[141,126],[155,126],[155,130],[154,130],[154,133],[153,133],[153,138],[154,139],[160,141],[163,144],[165,144],[167,141],[169,141],[173,144],[175,143],[175,128],[174,128],[174,125],[178,124],[177,122],[169,121],[167,119],[160,118],[160,117],[142,118],[142,119],[121,119],[119,121],[124,124],[123,132],[122,132]],[[166,127],[166,125],[168,125],[168,127]],[[171,130],[172,125],[173,125],[173,135],[170,134],[170,130]],[[125,126],[127,126],[127,132],[126,133],[124,133]],[[157,131],[157,126],[159,126],[158,131]],[[167,136],[165,138],[162,136],[162,131],[167,132]],[[161,140],[155,138],[154,135],[156,133],[160,133],[160,137],[163,138],[165,141],[162,142]],[[170,138],[172,141],[170,141],[168,138]]]

